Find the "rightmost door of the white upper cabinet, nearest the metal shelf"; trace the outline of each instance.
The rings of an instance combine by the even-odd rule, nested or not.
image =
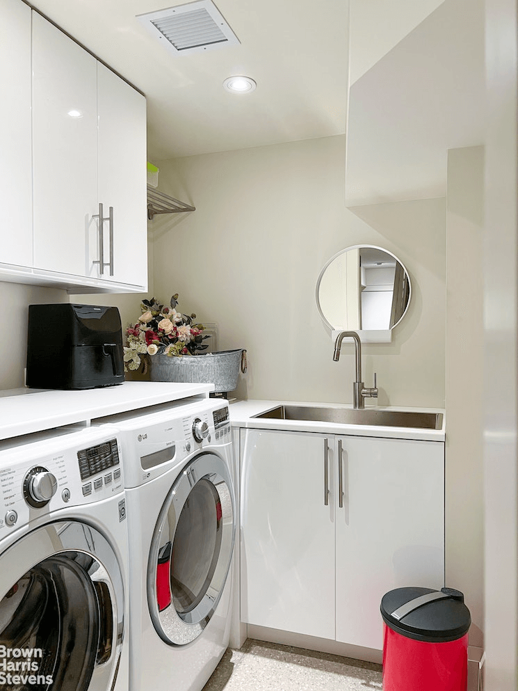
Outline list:
[[[129,84],[97,63],[99,112],[99,202],[113,208],[113,238],[104,223],[102,278],[147,290],[146,102]],[[97,259],[97,237],[90,237]],[[96,265],[98,271],[98,265]]]

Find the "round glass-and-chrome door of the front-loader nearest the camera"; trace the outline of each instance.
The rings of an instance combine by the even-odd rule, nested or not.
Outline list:
[[[49,523],[0,556],[0,688],[109,691],[123,635],[120,566],[95,528]]]

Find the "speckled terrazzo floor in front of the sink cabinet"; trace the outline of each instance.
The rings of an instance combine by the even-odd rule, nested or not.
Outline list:
[[[382,688],[381,665],[248,639],[228,649],[203,691],[366,691]]]

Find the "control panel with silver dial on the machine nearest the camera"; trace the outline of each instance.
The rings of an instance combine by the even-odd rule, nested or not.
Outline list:
[[[88,468],[81,466],[84,453]],[[97,502],[123,489],[113,427],[103,434],[73,429],[5,440],[0,443],[0,539],[37,516]]]

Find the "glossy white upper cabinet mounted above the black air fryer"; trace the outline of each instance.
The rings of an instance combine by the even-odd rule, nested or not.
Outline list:
[[[0,279],[145,292],[145,97],[20,0],[0,84]]]

